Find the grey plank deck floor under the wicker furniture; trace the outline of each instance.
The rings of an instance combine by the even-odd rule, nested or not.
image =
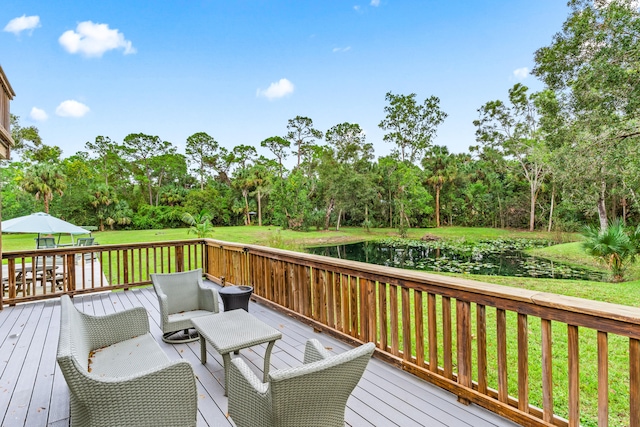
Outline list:
[[[215,286],[215,285],[212,285]],[[194,367],[198,384],[198,426],[233,426],[226,417],[222,358],[211,350],[200,363],[199,342],[169,345],[160,339],[157,299],[152,288],[76,296],[76,305],[91,314],[105,314],[143,306],[151,332],[171,358]],[[304,343],[314,337],[327,348],[342,352],[348,345],[259,304],[251,314],[282,331],[271,356],[272,369],[301,364]],[[0,417],[2,426],[68,426],[69,391],[55,354],[58,344],[58,299],[5,307],[0,311]],[[211,348],[211,346],[208,346]],[[265,347],[243,350],[241,357],[261,375]],[[152,391],[150,391],[152,392]],[[372,359],[348,402],[349,426],[513,426],[475,405],[384,362]]]

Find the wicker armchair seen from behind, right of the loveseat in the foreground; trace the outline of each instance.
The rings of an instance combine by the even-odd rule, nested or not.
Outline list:
[[[347,399],[375,346],[331,355],[307,341],[304,364],[269,374],[262,383],[240,358],[229,369],[229,415],[238,427],[344,427]]]

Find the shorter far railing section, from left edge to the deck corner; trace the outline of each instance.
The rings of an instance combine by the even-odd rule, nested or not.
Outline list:
[[[150,273],[202,267],[203,255],[202,240],[3,252],[0,308],[62,294],[148,285]]]

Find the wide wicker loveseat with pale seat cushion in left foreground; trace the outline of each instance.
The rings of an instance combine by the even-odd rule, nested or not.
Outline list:
[[[91,316],[68,295],[60,306],[57,362],[69,386],[72,426],[196,425],[193,368],[164,353],[144,308]]]

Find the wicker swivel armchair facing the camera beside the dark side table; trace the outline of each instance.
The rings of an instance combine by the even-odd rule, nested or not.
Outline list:
[[[218,292],[202,284],[202,269],[152,274],[162,318],[162,339],[175,344],[198,339],[191,319],[218,312]]]

